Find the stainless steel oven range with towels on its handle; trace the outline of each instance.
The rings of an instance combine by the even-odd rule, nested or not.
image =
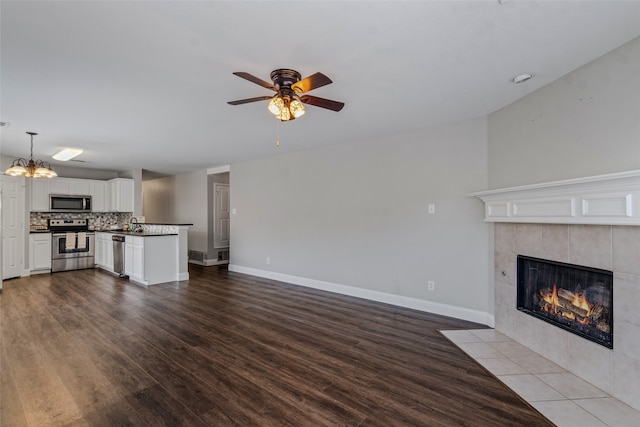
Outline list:
[[[50,219],[51,271],[95,267],[95,233],[86,219]]]

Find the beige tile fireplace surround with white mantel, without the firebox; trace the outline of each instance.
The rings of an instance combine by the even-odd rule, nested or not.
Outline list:
[[[473,195],[495,223],[495,329],[640,410],[640,171]],[[613,349],[519,312],[517,255],[613,271]]]

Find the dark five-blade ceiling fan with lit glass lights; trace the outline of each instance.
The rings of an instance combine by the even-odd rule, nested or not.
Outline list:
[[[313,105],[333,111],[340,111],[342,107],[344,107],[344,102],[332,101],[311,95],[299,95],[333,83],[329,77],[322,73],[315,73],[303,79],[299,72],[281,68],[271,72],[273,84],[243,71],[238,71],[233,74],[267,89],[271,89],[275,91],[276,94],[273,96],[265,95],[256,98],[229,101],[228,104],[240,105],[270,99],[269,111],[283,122],[302,116],[305,112],[304,105],[302,104]]]

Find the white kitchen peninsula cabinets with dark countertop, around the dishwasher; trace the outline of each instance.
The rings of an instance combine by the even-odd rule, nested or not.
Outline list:
[[[123,236],[124,274],[142,285],[189,280],[187,227],[191,224],[138,224],[138,231],[96,231],[96,266],[114,271],[112,237]]]

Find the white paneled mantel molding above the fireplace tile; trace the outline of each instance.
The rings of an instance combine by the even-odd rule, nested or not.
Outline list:
[[[640,170],[470,195],[487,222],[640,225]]]

